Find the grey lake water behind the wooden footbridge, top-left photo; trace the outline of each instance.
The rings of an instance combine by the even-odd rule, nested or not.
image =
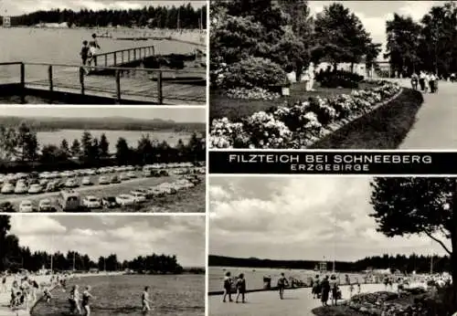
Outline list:
[[[90,40],[92,33],[104,33],[104,31],[84,28],[0,27],[0,42],[2,43],[0,62],[24,61],[79,65],[82,41]],[[118,34],[119,37],[138,37],[143,34],[138,30],[112,30],[110,33]],[[187,37],[193,40],[195,34],[195,32],[189,33]],[[154,45],[155,54],[186,54],[193,52],[196,48],[195,45],[170,40],[130,41],[99,38],[98,41],[101,46],[101,53],[129,47]],[[18,71],[18,66],[0,67],[0,79],[18,78]],[[27,66],[27,78],[43,77],[43,73],[46,76],[47,71],[47,68],[44,67]]]

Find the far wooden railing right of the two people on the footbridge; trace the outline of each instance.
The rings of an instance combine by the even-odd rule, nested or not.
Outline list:
[[[154,46],[133,47],[97,54],[93,58],[93,61],[95,66],[102,64],[104,67],[116,67],[118,65],[142,60],[143,58],[153,57],[154,55]],[[118,60],[119,58],[120,60]],[[110,61],[112,61],[111,64]]]

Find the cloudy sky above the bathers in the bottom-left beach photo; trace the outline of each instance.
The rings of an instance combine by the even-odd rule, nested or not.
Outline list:
[[[114,253],[118,260],[140,255],[176,255],[183,267],[205,267],[205,216],[11,216],[21,246],[92,260]]]

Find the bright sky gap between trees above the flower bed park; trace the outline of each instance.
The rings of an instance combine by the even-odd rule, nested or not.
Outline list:
[[[324,6],[334,2],[310,1],[311,13],[315,15],[322,12]],[[381,43],[385,49],[386,21],[392,19],[394,13],[400,16],[411,16],[414,20],[419,21],[433,5],[443,5],[445,1],[340,1],[340,3],[358,16],[367,32],[371,34],[373,42]],[[384,59],[382,54],[379,54],[378,59]]]

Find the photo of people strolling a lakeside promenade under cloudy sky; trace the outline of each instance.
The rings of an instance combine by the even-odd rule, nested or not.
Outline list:
[[[447,314],[456,187],[455,178],[211,176],[209,315]]]

